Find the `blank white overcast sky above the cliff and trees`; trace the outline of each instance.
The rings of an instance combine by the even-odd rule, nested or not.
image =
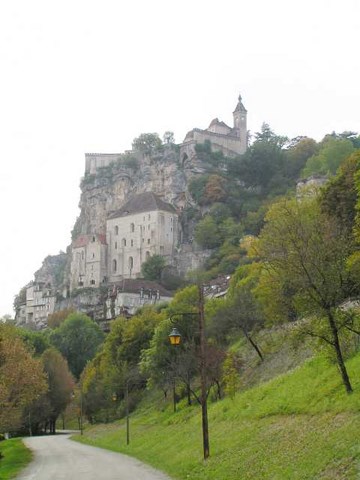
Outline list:
[[[360,132],[359,0],[0,2],[0,317],[79,215],[85,152],[232,124]]]

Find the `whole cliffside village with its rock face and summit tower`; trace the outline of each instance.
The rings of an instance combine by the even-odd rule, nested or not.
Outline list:
[[[18,296],[17,324],[44,328],[50,314],[76,308],[106,322],[133,314],[146,303],[167,301],[172,293],[143,280],[142,265],[153,255],[167,273],[184,277],[201,267],[209,252],[196,245],[187,218],[193,199],[188,185],[203,173],[196,146],[211,144],[226,157],[244,154],[247,111],[239,96],[230,127],[218,118],[208,128],[189,131],[180,145],[133,145],[120,154],[86,153],[81,213],[66,253],[49,256],[35,280]],[[210,292],[226,291],[224,277]]]

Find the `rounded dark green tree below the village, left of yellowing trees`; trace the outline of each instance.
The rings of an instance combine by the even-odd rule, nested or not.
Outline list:
[[[72,313],[50,334],[50,342],[66,358],[76,378],[95,356],[103,339],[100,327],[83,313]]]

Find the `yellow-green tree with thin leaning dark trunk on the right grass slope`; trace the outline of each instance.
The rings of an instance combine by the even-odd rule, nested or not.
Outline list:
[[[346,323],[339,307],[354,289],[346,265],[352,249],[352,239],[321,212],[317,198],[274,204],[258,243],[267,277],[287,287],[299,318],[314,319],[303,323],[303,331],[331,347],[348,393],[352,386],[340,342]]]

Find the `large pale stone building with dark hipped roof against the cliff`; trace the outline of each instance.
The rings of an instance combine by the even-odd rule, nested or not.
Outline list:
[[[153,255],[171,261],[178,243],[175,208],[157,195],[145,192],[131,197],[106,222],[108,278],[117,282],[136,278],[141,265]]]

